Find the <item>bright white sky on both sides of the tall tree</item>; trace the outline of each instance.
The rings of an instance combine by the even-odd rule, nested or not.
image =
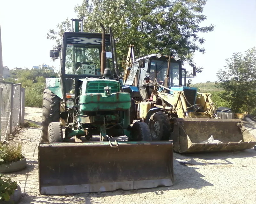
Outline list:
[[[46,39],[48,29],[66,17],[76,18],[74,7],[82,0],[0,0],[3,65],[14,67],[56,66],[49,50],[53,41]],[[193,83],[216,81],[218,69],[226,65],[225,58],[256,46],[255,0],[208,0],[204,12],[207,20],[202,25],[215,25],[210,33],[202,33],[205,54],[196,53],[194,62],[204,72],[193,78]],[[128,51],[128,50],[127,50]]]

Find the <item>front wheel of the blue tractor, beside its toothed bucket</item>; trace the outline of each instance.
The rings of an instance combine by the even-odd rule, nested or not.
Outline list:
[[[153,141],[169,140],[172,130],[171,122],[164,112],[152,114],[148,121],[148,127]]]

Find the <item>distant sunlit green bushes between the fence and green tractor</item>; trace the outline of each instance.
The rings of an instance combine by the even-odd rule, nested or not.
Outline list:
[[[46,86],[45,78],[58,77],[57,73],[43,67],[40,69],[18,69],[11,70],[11,77],[6,81],[21,83],[25,91],[25,106],[39,107],[43,106],[43,91]]]

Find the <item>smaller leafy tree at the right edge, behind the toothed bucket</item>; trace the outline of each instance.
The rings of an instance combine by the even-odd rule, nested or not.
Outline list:
[[[226,59],[227,66],[217,73],[217,86],[225,91],[221,98],[228,101],[236,112],[252,112],[256,108],[256,48],[233,53]]]

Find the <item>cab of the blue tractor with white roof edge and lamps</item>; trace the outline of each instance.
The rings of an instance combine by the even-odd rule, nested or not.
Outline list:
[[[130,92],[135,100],[148,100],[155,83],[158,83],[162,90],[166,87],[167,92],[186,86],[186,69],[182,68],[182,62],[175,57],[151,54],[137,59],[128,70],[123,89]]]

